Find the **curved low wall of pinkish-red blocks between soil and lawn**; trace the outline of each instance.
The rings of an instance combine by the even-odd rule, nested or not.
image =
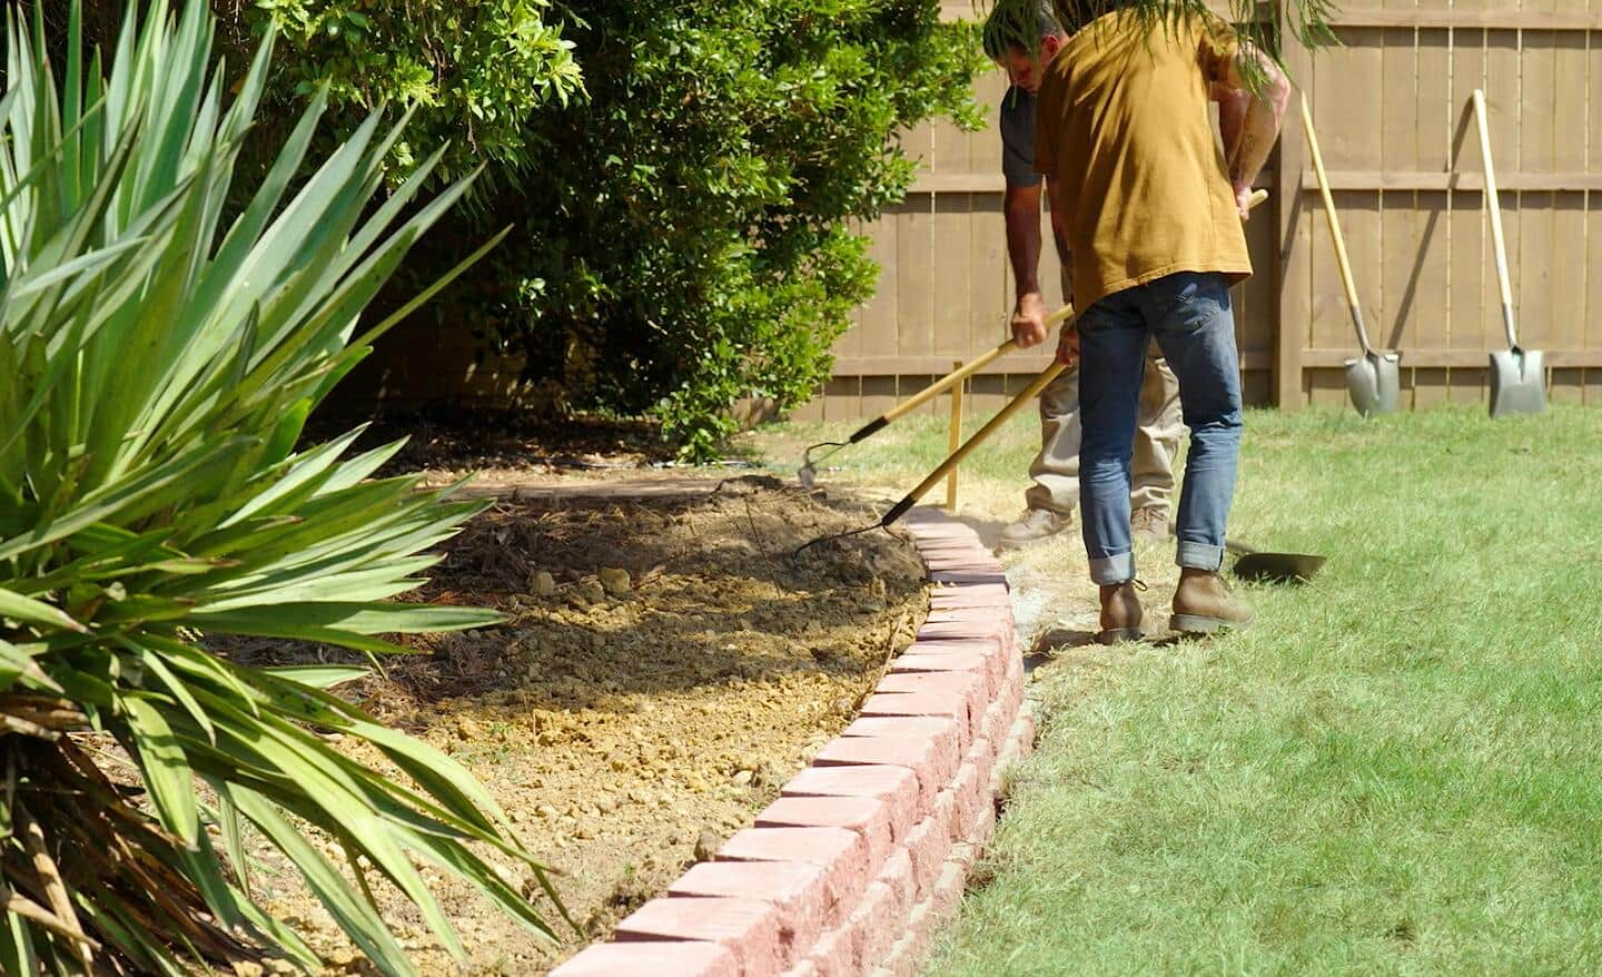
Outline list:
[[[907,517],[929,617],[855,722],[756,825],[551,977],[902,977],[955,916],[1028,753],[1001,565],[936,509]]]

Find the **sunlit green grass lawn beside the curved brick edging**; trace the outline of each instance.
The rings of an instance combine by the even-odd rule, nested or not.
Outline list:
[[[1602,971],[1599,447],[1596,408],[1250,415],[1232,529],[1328,565],[1250,631],[1036,671],[931,974]]]

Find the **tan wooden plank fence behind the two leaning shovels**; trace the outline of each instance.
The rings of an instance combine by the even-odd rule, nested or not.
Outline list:
[[[1342,48],[1286,53],[1314,111],[1357,287],[1376,343],[1402,352],[1403,402],[1488,396],[1487,351],[1506,346],[1483,211],[1471,93],[1483,88],[1503,191],[1520,343],[1546,351],[1554,400],[1602,402],[1602,0],[1363,0],[1338,14]],[[971,16],[968,5],[950,16]],[[995,106],[1000,72],[977,80]],[[926,125],[907,202],[865,227],[876,298],[835,346],[835,378],[798,420],[879,413],[1006,338],[1012,301],[1000,139]],[[1296,408],[1346,399],[1346,300],[1296,107],[1248,224],[1258,274],[1237,290],[1246,397]],[[1045,216],[1043,216],[1045,229]],[[1048,231],[1049,232],[1049,231]],[[1057,296],[1056,256],[1041,285]],[[974,381],[995,408],[1046,364],[998,360]],[[931,407],[937,410],[939,407]]]

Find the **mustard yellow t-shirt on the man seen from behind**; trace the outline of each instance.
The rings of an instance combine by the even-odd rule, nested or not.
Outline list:
[[[1238,51],[1222,22],[1147,32],[1128,11],[1091,21],[1040,85],[1035,170],[1057,183],[1073,306],[1181,271],[1251,275],[1235,194],[1208,115]]]

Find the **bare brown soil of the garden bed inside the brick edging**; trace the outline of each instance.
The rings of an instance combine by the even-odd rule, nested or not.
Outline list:
[[[423,599],[492,605],[506,623],[429,637],[431,653],[344,692],[473,770],[585,931],[551,947],[441,879],[468,972],[538,974],[607,935],[852,719],[923,620],[923,567],[884,533],[801,564],[790,551],[865,521],[855,505],[734,479],[649,506],[503,501],[449,545]],[[312,931],[333,972],[362,972],[298,879],[266,881],[276,915]],[[386,916],[425,972],[461,972],[404,900]]]

